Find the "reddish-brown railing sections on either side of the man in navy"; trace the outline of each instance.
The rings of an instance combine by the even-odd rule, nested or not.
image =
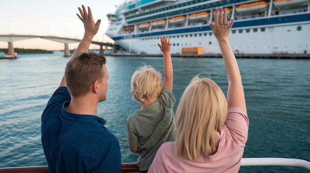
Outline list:
[[[137,163],[122,163],[123,173],[139,172]],[[48,166],[0,168],[0,173],[50,173]]]

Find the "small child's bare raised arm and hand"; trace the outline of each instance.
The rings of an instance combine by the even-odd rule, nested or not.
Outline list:
[[[160,37],[161,45],[158,44],[160,50],[163,53],[163,69],[164,79],[162,87],[169,89],[172,92],[173,88],[173,67],[170,54],[170,38],[167,39],[166,35]]]

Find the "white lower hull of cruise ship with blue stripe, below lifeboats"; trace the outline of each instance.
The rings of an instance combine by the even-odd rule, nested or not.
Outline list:
[[[265,16],[259,13],[258,17],[235,19],[229,40],[236,54],[310,53],[310,11],[269,16],[266,13]],[[159,54],[157,43],[162,35],[171,39],[172,54],[182,54],[182,48],[187,47],[203,47],[203,54],[220,53],[208,23],[196,26],[185,23],[176,28],[109,36],[128,52]]]

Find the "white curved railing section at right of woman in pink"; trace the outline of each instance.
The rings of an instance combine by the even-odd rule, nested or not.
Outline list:
[[[310,162],[291,158],[242,158],[241,166],[289,166],[310,170]]]

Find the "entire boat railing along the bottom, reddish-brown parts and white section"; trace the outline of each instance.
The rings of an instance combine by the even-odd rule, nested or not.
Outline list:
[[[292,158],[242,158],[241,166],[288,166],[310,170],[310,162]],[[0,173],[50,173],[48,166],[0,168]],[[122,173],[139,173],[137,163],[122,163]]]

